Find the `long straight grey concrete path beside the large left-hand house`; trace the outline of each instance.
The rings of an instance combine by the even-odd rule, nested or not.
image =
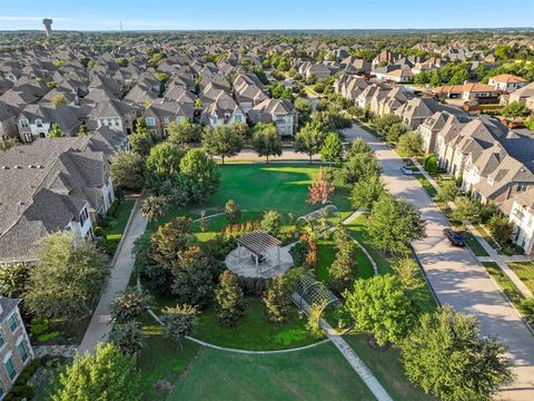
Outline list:
[[[135,264],[134,243],[145,233],[147,221],[141,216],[140,198],[138,198],[117,250],[107,290],[100,297],[78,349],[80,353],[92,352],[99,342],[108,340],[112,327],[109,306],[117,295],[128,286]]]

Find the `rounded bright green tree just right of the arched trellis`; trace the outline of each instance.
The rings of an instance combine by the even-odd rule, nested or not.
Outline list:
[[[355,329],[372,333],[378,345],[399,343],[414,323],[414,305],[394,275],[357,280],[344,296],[345,311]]]

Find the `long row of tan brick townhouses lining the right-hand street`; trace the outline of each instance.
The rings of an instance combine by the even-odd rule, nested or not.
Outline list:
[[[444,170],[462,177],[464,190],[508,215],[515,243],[534,254],[532,131],[508,129],[497,119],[358,76],[338,78],[334,89],[373,115],[395,114],[407,129],[419,131],[425,151],[435,154]]]

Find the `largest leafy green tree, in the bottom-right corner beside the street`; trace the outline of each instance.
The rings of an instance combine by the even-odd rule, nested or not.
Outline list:
[[[403,342],[408,379],[444,401],[492,400],[512,381],[505,346],[482,338],[476,317],[451,306],[424,314]]]

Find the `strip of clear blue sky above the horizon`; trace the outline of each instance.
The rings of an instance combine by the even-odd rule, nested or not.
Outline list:
[[[534,0],[0,0],[0,30],[534,27]]]

